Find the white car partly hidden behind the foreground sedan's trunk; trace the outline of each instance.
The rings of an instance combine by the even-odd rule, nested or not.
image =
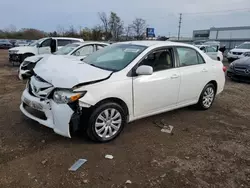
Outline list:
[[[219,51],[218,47],[216,48],[210,45],[196,45],[196,47],[198,47],[212,59],[223,61],[223,54],[221,51]]]

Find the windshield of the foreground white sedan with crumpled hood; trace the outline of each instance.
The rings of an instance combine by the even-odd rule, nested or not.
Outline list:
[[[84,59],[84,62],[101,69],[119,71],[130,64],[146,48],[146,46],[133,44],[113,44],[90,54]]]

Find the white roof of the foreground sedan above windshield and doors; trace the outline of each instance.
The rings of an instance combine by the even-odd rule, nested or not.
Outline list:
[[[117,43],[116,43],[117,44]],[[184,46],[184,47],[195,47],[191,44],[181,43],[181,42],[172,42],[172,41],[157,41],[157,40],[145,40],[145,41],[128,41],[128,42],[119,42],[119,44],[133,44],[146,47],[161,47],[161,46]]]

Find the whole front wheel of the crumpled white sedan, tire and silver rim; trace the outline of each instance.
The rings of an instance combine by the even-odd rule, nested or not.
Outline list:
[[[98,142],[115,139],[126,123],[126,115],[119,104],[107,102],[98,106],[89,118],[87,135]]]

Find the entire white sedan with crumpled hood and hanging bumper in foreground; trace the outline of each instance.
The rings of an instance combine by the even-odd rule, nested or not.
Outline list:
[[[62,136],[84,129],[99,142],[140,118],[194,104],[209,109],[225,84],[221,62],[182,43],[122,42],[84,62],[61,56],[50,61],[35,67],[21,111]]]

